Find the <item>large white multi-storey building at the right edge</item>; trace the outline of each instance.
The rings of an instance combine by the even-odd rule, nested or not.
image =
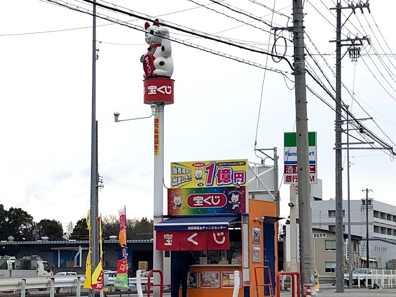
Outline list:
[[[378,261],[379,268],[386,268],[386,263],[396,258],[396,206],[376,200],[368,201],[369,255]],[[347,200],[343,202],[344,232],[348,232]],[[335,231],[336,201],[314,200],[311,206],[312,227]],[[360,256],[365,257],[366,208],[362,205],[362,200],[351,200],[350,209],[351,234],[363,238]]]

